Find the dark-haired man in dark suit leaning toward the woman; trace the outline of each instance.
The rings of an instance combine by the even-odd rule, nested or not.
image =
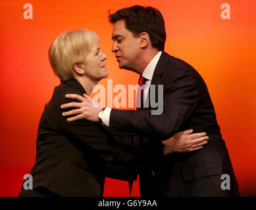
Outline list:
[[[185,129],[206,132],[209,143],[202,150],[174,153],[141,164],[141,196],[238,196],[238,184],[207,86],[192,66],[163,51],[166,33],[161,13],[137,5],[120,9],[109,20],[114,24],[112,51],[119,67],[140,74],[140,81],[147,87],[142,101],[149,102],[149,107],[140,111],[100,111],[86,97],[80,106],[82,114],[70,120],[98,121],[100,111],[101,120],[111,132],[139,136],[139,145],[143,142],[149,147]],[[159,106],[163,103],[163,113],[156,115],[152,114],[156,110],[151,104],[152,85],[156,88],[155,98],[159,93],[163,95],[163,101],[159,101]],[[163,85],[163,91],[158,91],[159,85]],[[70,114],[74,112],[66,115]],[[120,138],[120,142],[124,139]],[[222,175],[228,180],[222,180]]]

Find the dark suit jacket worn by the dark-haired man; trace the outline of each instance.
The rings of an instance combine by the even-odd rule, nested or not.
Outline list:
[[[238,196],[228,150],[202,77],[186,62],[162,52],[151,85],[156,85],[155,98],[157,85],[163,85],[163,114],[151,115],[151,106],[142,111],[111,110],[109,129],[122,131],[119,142],[128,144],[126,136],[135,133],[142,136],[139,142],[152,146],[186,129],[206,132],[209,140],[201,150],[144,162],[141,196]],[[230,175],[230,190],[222,190],[221,183],[226,181],[222,174]]]

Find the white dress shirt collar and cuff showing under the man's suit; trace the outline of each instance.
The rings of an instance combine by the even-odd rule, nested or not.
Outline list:
[[[159,58],[160,58],[161,54],[162,54],[162,51],[159,51],[159,53],[157,53],[155,55],[155,57],[151,60],[151,62],[149,62],[149,64],[147,64],[147,67],[145,68],[145,70],[142,73],[142,77],[144,77],[146,79],[146,81],[145,81],[146,88],[143,91],[143,93],[144,93],[143,94],[143,102],[145,102],[147,93],[149,92],[149,86],[151,84],[152,77],[153,77],[153,74],[155,72],[155,66],[157,66],[157,62],[159,61]],[[136,100],[136,105],[137,104],[138,104],[138,97],[137,97],[137,100]],[[103,116],[101,118],[104,125],[109,126],[110,114],[111,114],[111,108],[106,107],[104,112],[103,112]]]

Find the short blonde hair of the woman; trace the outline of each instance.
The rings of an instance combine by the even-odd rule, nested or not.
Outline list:
[[[82,62],[98,36],[89,30],[67,31],[51,44],[49,60],[55,74],[65,81],[74,79],[73,64]]]

